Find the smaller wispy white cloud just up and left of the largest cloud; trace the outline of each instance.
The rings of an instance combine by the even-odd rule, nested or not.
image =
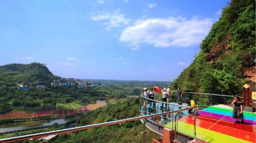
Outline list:
[[[110,31],[112,28],[125,26],[129,23],[129,19],[125,18],[124,14],[119,13],[119,9],[112,13],[103,13],[91,16],[93,21],[103,21],[103,25],[106,26],[106,30]]]

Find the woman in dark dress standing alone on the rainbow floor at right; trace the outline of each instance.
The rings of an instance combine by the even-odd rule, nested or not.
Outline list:
[[[240,123],[239,119],[241,120],[241,123],[244,123],[243,102],[240,100],[238,95],[234,96],[234,100],[231,105],[234,105],[233,118],[237,119],[235,123]]]

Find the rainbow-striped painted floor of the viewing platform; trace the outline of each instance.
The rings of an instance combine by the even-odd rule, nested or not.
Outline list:
[[[196,120],[197,138],[207,142],[256,142],[256,114],[244,112],[245,123],[234,123],[232,109],[217,105],[199,111]],[[165,125],[172,128],[172,123]],[[179,119],[178,131],[194,136],[194,117]]]

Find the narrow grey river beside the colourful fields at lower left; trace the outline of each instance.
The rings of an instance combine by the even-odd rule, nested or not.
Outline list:
[[[11,125],[1,125],[0,131],[10,132],[15,130],[28,130],[31,128],[42,128],[46,126],[52,126],[54,124],[65,124],[68,121],[74,121],[77,117],[73,118],[60,118],[56,120],[41,120],[41,121],[33,121],[33,122],[24,122],[24,123],[15,123]]]

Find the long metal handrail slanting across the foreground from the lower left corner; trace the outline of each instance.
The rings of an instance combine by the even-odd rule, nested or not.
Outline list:
[[[39,138],[39,137],[48,136],[48,135],[70,133],[70,132],[75,132],[75,131],[87,130],[87,129],[91,129],[91,128],[98,128],[98,127],[120,124],[120,123],[125,123],[125,122],[137,121],[137,120],[151,118],[151,117],[155,117],[155,116],[159,116],[159,115],[172,114],[172,113],[181,112],[181,111],[194,109],[194,108],[197,108],[197,106],[187,107],[185,109],[169,111],[169,112],[164,112],[164,113],[157,113],[157,114],[151,114],[151,115],[145,115],[145,116],[126,118],[126,119],[118,120],[118,121],[111,121],[111,122],[98,123],[98,124],[93,124],[93,125],[86,125],[86,126],[80,126],[80,127],[74,127],[74,128],[68,128],[68,129],[62,129],[62,130],[55,130],[55,131],[49,131],[49,132],[43,132],[43,133],[36,133],[36,134],[4,138],[4,139],[0,139],[0,142],[1,143],[2,142],[14,142],[14,141],[26,140],[26,139],[30,139],[30,138]]]

